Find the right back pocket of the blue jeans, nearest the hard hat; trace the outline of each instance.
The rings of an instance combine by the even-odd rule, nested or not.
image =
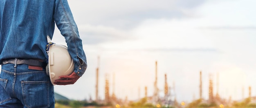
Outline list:
[[[24,104],[28,108],[49,107],[49,82],[48,81],[22,81],[22,94]]]

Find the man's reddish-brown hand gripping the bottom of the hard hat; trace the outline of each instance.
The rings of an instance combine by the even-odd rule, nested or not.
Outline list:
[[[75,72],[73,72],[70,75],[60,76],[58,78],[59,79],[56,79],[54,84],[68,85],[68,84],[74,84],[77,81],[77,79],[79,79],[80,77]]]

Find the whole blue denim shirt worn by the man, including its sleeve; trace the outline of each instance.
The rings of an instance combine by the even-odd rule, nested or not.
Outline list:
[[[8,58],[48,62],[47,35],[52,38],[55,23],[65,37],[74,72],[82,76],[87,62],[67,0],[0,0],[0,63]]]

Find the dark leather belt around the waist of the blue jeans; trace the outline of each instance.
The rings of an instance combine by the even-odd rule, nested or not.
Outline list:
[[[4,64],[27,64],[30,66],[40,66],[42,68],[45,68],[47,65],[46,62],[40,62],[38,60],[34,59],[5,59],[2,61],[2,65]]]

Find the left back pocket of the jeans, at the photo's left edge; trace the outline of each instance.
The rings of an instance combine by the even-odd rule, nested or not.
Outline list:
[[[0,104],[4,103],[5,101],[11,100],[11,97],[5,90],[6,84],[8,79],[0,78]]]

